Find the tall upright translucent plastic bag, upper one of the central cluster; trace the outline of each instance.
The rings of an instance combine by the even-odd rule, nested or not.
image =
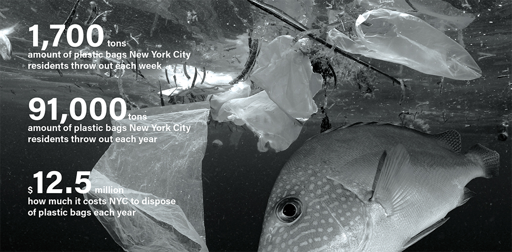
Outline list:
[[[276,37],[262,49],[251,80],[293,118],[308,119],[317,111],[313,96],[322,88],[322,75],[313,73],[309,57],[300,50],[308,39],[293,47],[293,37]]]

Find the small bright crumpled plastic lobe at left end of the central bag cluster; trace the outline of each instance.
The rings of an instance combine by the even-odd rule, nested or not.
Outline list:
[[[219,110],[222,105],[229,100],[249,97],[251,94],[251,86],[247,82],[239,82],[233,85],[224,93],[213,95],[210,99],[211,118],[215,121],[227,121],[227,118],[219,117]]]

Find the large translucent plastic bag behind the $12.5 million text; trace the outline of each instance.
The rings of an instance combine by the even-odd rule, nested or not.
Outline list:
[[[108,213],[96,217],[124,250],[207,251],[201,162],[208,108],[209,104],[202,102],[132,110],[132,115],[145,114],[147,120],[112,122],[126,130],[113,133],[114,142],[92,170],[92,188],[84,198],[105,200],[89,206]],[[147,129],[131,130],[131,125]],[[162,128],[154,131],[152,125]],[[130,142],[116,143],[116,138]],[[141,143],[139,138],[153,138],[154,143]],[[111,203],[111,198],[116,203]],[[118,216],[123,213],[118,211],[125,215]]]

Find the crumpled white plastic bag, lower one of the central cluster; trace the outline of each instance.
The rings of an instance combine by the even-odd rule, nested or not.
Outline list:
[[[275,151],[286,150],[302,129],[302,124],[281,110],[264,91],[224,103],[219,117],[237,125],[246,124],[260,137],[258,150],[262,152],[269,147]]]

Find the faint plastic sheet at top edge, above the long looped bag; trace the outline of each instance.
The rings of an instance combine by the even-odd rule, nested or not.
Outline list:
[[[475,15],[466,13],[450,3],[441,0],[409,0],[417,12],[411,12],[412,8],[405,0],[358,0],[358,4],[365,8],[385,8],[399,12],[408,12],[421,18],[427,24],[440,31],[462,30],[475,20]]]

